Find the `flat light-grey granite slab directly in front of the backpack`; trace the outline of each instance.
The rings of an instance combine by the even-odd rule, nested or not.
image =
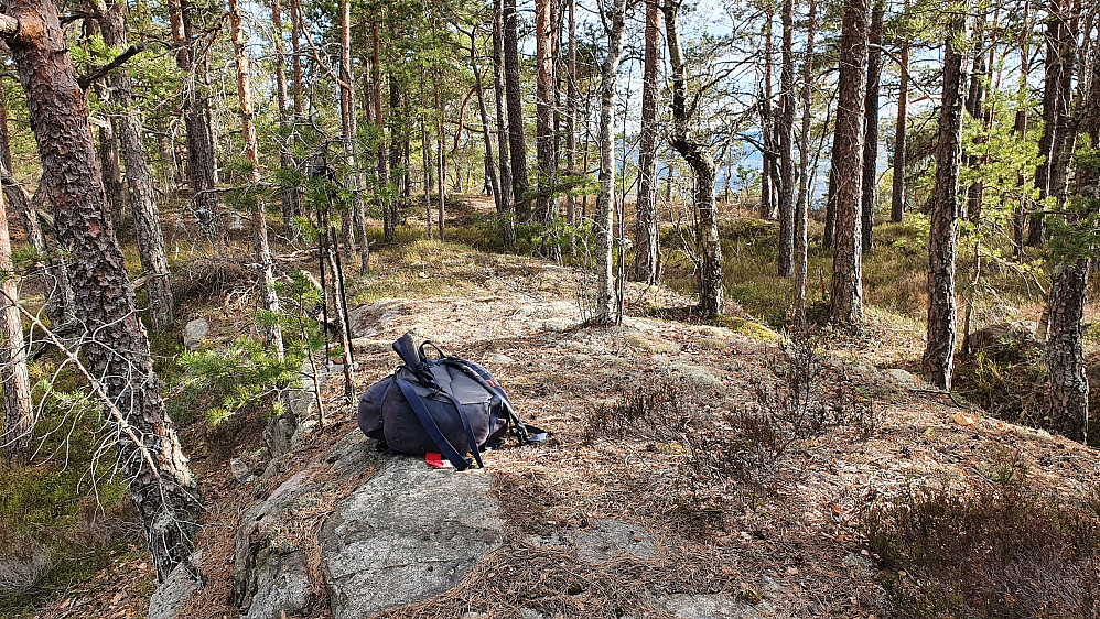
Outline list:
[[[358,619],[442,594],[500,545],[484,471],[385,459],[321,530],[334,619]]]

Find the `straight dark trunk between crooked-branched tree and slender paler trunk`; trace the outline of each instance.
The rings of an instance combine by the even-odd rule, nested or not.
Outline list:
[[[779,72],[779,258],[780,278],[795,267],[795,0],[783,0],[783,67]],[[804,172],[805,174],[805,172]]]

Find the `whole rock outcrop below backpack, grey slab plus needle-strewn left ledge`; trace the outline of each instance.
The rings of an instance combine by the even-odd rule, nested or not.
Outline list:
[[[241,518],[234,601],[246,619],[369,617],[452,588],[500,543],[484,471],[382,455],[358,430]]]

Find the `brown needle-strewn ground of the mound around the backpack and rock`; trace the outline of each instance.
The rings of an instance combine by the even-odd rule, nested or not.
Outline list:
[[[308,258],[280,267],[312,268]],[[681,593],[723,594],[765,617],[935,613],[935,600],[952,595],[961,606],[939,611],[1014,604],[1015,616],[1072,617],[1066,609],[1087,607],[1097,530],[1074,521],[1048,522],[1048,531],[1029,519],[1053,522],[1047,506],[1082,518],[1092,506],[1100,519],[1100,499],[1085,501],[1097,497],[1097,452],[888,371],[913,369],[919,324],[881,321],[859,336],[806,344],[736,304],[720,324],[701,324],[690,297],[630,284],[623,324],[597,328],[582,322],[592,280],[581,270],[408,238],[376,245],[373,258],[371,275],[349,285],[352,305],[369,306],[359,314],[359,390],[395,367],[384,345],[412,330],[483,363],[526,421],[554,433],[549,445],[486,457],[505,545],[456,589],[386,617],[517,617],[520,607],[548,617],[667,617],[654,600]],[[211,345],[227,344],[254,329],[246,298],[227,286],[192,301],[181,323],[205,316]],[[294,466],[355,428],[334,382],[334,423],[294,453]],[[217,428],[191,420],[182,436],[208,507],[201,616],[235,617],[227,542],[257,488],[238,484],[229,461],[262,445],[265,416],[252,411]],[[943,518],[956,508],[957,518]],[[592,564],[538,543],[602,519],[640,525],[654,552]],[[1074,537],[1081,554],[1052,555],[1046,537],[1004,551],[1021,543],[1004,536],[1026,535],[990,519],[1018,520],[1057,543],[1083,531]],[[955,552],[977,564],[914,558],[952,531],[974,537]],[[153,577],[132,547],[30,615],[141,616]],[[982,583],[986,593],[959,590]],[[899,604],[914,606],[902,612]]]

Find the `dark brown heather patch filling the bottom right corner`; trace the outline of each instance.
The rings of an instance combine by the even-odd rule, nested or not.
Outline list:
[[[1045,495],[1020,452],[970,488],[869,497],[867,547],[892,616],[1100,617],[1100,500]]]

